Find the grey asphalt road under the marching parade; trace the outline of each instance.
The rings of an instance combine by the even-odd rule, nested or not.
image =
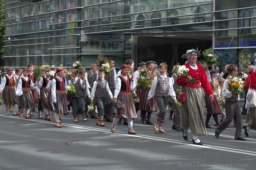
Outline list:
[[[256,131],[250,130],[247,141],[234,140],[235,128],[224,130],[219,139],[212,129],[201,136],[204,145],[185,141],[182,132],[172,130],[172,120],[163,125],[166,134],[156,134],[153,126],[134,120],[137,135],[129,135],[128,126],[117,125],[116,133],[110,132],[111,123],[100,127],[88,118],[73,123],[70,114],[62,116],[62,128],[37,118],[6,116],[0,109],[0,169],[256,169]],[[138,114],[139,115],[139,114]],[[166,118],[169,114],[166,115]],[[243,116],[243,123],[246,116]],[[152,116],[152,122],[156,115]],[[86,140],[86,141],[84,141]],[[69,145],[68,142],[84,141],[86,145]],[[102,144],[101,144],[102,143]]]

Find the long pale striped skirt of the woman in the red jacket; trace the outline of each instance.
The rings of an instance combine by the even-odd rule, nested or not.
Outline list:
[[[182,87],[182,92],[187,86]],[[182,129],[190,127],[194,135],[206,135],[203,119],[203,92],[201,88],[189,87],[187,90],[187,101],[181,103],[181,122]]]

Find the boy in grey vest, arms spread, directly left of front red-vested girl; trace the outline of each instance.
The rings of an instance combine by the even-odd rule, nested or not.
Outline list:
[[[96,125],[99,126],[105,126],[103,116],[104,116],[104,104],[105,104],[105,97],[109,94],[111,98],[111,102],[113,101],[113,95],[112,92],[109,89],[108,82],[104,80],[105,72],[104,70],[100,69],[98,72],[98,77],[94,83],[92,88],[92,94],[91,94],[91,103],[95,100],[94,97],[97,100],[97,105],[99,109],[99,114],[97,117]],[[108,93],[108,94],[107,94]]]

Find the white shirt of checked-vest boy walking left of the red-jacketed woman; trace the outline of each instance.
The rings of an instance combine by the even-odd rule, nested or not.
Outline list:
[[[159,76],[164,80],[165,78],[167,78],[167,75],[164,74],[164,76],[162,76],[161,74],[159,74]],[[153,84],[149,90],[149,93],[148,93],[148,99],[152,98],[155,93],[156,93],[156,86],[157,86],[157,76],[154,77],[154,80],[153,80]],[[173,90],[173,84],[172,84],[172,81],[170,80],[169,81],[169,85],[168,85],[168,95],[170,95],[174,100],[176,100],[176,94]]]

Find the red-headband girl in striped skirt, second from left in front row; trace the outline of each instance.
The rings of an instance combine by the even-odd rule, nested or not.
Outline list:
[[[23,70],[23,76],[19,79],[17,87],[17,97],[19,98],[19,107],[21,107],[19,116],[22,117],[23,111],[25,109],[25,118],[30,119],[29,108],[34,106],[34,100],[31,89],[35,89],[35,86],[31,79],[28,77],[28,70]]]

